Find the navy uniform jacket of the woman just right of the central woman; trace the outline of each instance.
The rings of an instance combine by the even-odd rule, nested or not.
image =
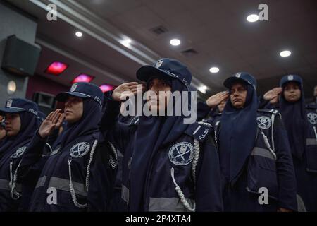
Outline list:
[[[224,183],[225,211],[297,210],[296,179],[290,145],[280,114],[258,110],[254,148],[234,182]],[[221,125],[216,126],[220,133]],[[268,205],[259,204],[261,188],[268,191]]]

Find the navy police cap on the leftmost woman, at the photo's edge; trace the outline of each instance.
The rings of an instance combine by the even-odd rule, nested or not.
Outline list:
[[[39,107],[35,102],[22,98],[12,98],[6,101],[6,106],[0,108],[0,114],[31,112],[37,116]]]

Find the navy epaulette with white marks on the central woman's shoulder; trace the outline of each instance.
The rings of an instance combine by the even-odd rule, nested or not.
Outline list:
[[[204,121],[196,121],[188,126],[185,133],[194,137],[197,141],[204,141],[211,131],[213,131],[211,124]]]

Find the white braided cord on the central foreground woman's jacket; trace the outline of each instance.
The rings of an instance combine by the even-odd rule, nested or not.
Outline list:
[[[196,166],[197,166],[198,159],[199,159],[199,141],[194,139],[194,158],[192,160],[192,176],[194,178],[194,182],[196,182]],[[180,201],[182,202],[182,205],[184,205],[185,208],[187,208],[187,210],[194,212],[196,210],[196,203],[194,203],[193,207],[189,205],[187,199],[184,196],[184,193],[182,192],[182,189],[180,189],[180,186],[178,186],[178,183],[175,181],[173,167],[170,169],[170,176],[173,179],[173,183],[175,184],[175,190],[178,196],[180,197]]]

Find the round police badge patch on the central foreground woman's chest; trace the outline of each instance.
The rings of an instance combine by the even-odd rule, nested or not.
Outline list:
[[[194,157],[194,147],[188,142],[176,143],[168,151],[168,157],[175,165],[187,165]]]

